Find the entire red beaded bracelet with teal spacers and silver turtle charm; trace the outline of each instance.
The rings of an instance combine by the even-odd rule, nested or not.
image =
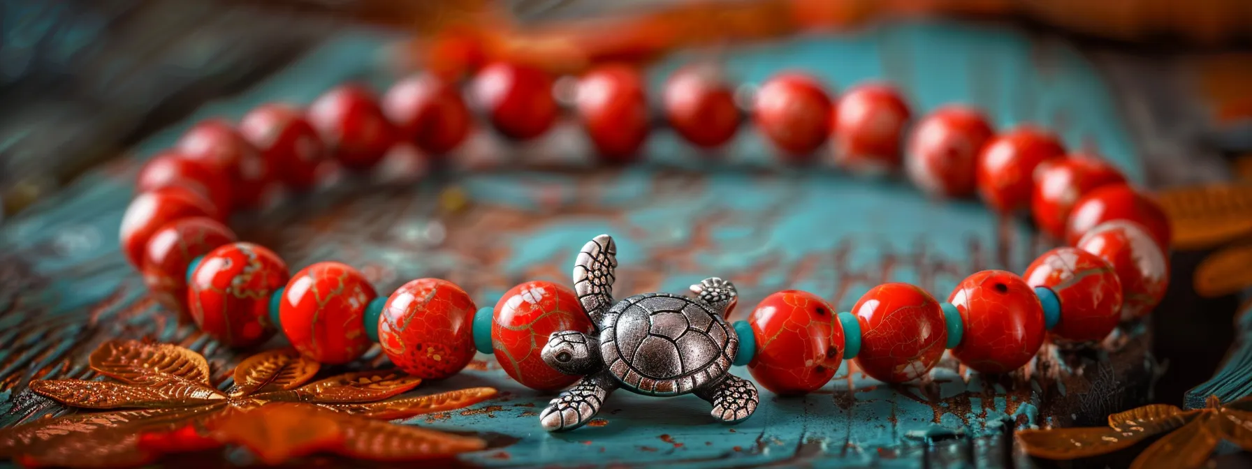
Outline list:
[[[471,84],[492,126],[511,139],[543,134],[560,111],[545,73],[493,64]],[[669,123],[687,141],[715,148],[741,120],[732,90],[706,68],[676,73],[664,93]],[[597,154],[637,156],[650,123],[640,74],[623,66],[578,80],[573,108]],[[438,379],[463,369],[475,351],[495,354],[505,371],[538,390],[570,388],[541,414],[548,430],[590,420],[613,389],[649,395],[695,393],[712,416],[739,421],[759,398],[751,381],[727,373],[747,365],[776,394],[804,394],[829,381],[844,359],[869,376],[901,383],[926,374],[945,349],[967,366],[1004,373],[1025,365],[1045,333],[1084,344],[1119,320],[1147,314],[1168,283],[1169,225],[1163,211],[1111,165],[1064,156],[1052,134],[1020,126],[1000,135],[970,108],[939,108],[911,126],[900,93],[866,84],[833,103],[816,80],[785,73],[755,94],[751,115],[786,161],[803,163],[835,136],[833,160],[858,173],[904,166],[936,196],[978,193],[995,211],[1030,208],[1038,228],[1072,246],[1039,256],[1018,276],[987,270],[960,281],[945,303],[899,283],[870,289],[851,311],[798,290],[765,298],[747,320],[726,323],[731,283],[710,278],[695,298],[645,294],[612,299],[616,248],[607,235],[587,243],[575,288],[530,281],[478,310],[461,288],[412,280],[379,296],[339,263],[289,275],[273,251],[238,243],[220,221],[257,206],[268,185],[314,185],[333,155],[348,169],[377,164],[392,144],[409,141],[444,155],[468,135],[472,113],[456,88],[431,76],[396,84],[382,105],[362,88],[342,86],[300,113],[265,105],[237,131],[210,120],[140,171],[140,194],[121,224],[121,245],[156,299],[190,315],[232,345],[280,330],[305,356],[351,361],[378,341],[406,373]],[[909,134],[903,151],[901,140]],[[903,161],[901,161],[903,160]],[[542,349],[536,350],[542,345]]]

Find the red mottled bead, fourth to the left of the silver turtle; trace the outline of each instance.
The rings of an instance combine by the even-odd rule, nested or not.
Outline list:
[[[229,346],[260,344],[277,330],[269,320],[269,296],[287,278],[287,264],[264,246],[219,246],[204,255],[187,284],[192,319]]]

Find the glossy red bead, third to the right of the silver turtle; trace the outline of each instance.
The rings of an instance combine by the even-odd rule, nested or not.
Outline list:
[[[964,333],[953,356],[983,373],[1005,373],[1025,365],[1047,333],[1043,305],[1034,288],[1014,273],[983,270],[952,290],[948,303],[960,311]]]

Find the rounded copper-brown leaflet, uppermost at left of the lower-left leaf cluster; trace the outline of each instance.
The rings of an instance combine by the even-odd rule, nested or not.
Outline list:
[[[93,369],[123,383],[153,385],[182,380],[212,386],[204,356],[178,345],[110,340],[100,344],[89,360]]]

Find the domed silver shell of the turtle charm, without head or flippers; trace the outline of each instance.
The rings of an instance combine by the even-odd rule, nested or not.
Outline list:
[[[635,295],[605,314],[600,353],[622,388],[679,395],[719,379],[739,353],[721,311],[667,293]]]

